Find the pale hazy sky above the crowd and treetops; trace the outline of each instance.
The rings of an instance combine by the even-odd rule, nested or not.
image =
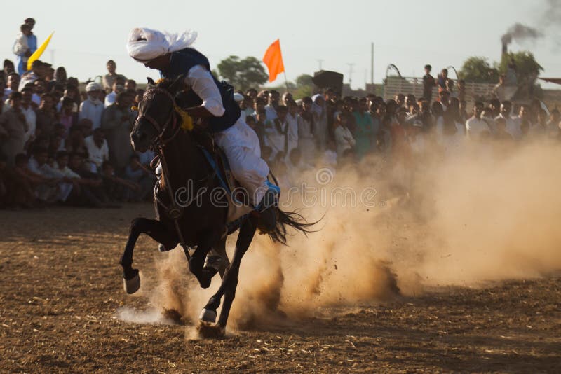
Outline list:
[[[472,55],[499,60],[506,29],[515,22],[540,27],[548,3],[561,1],[26,0],[25,6],[10,1],[3,4],[9,17],[0,23],[0,57],[15,60],[15,36],[23,20],[32,17],[39,44],[55,32],[41,60],[64,66],[69,76],[85,81],[103,75],[105,62],[112,59],[118,73],[145,81],[147,76],[158,78],[158,73],[128,57],[130,29],[194,29],[194,47],[212,68],[229,55],[260,60],[280,39],[289,81],[313,75],[321,66],[343,73],[345,83],[351,78],[353,88],[364,88],[370,83],[371,43],[375,83],[381,83],[388,64],[395,64],[403,76],[422,76],[425,64],[433,66],[433,73],[450,65],[459,70]],[[514,42],[510,49],[531,50],[544,68],[541,76],[561,77],[560,36],[560,29],[548,29],[538,41]],[[282,75],[273,82],[280,84]]]

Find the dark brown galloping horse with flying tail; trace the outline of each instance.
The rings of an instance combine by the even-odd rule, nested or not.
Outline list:
[[[202,288],[210,286],[212,277],[220,272],[222,283],[203,307],[199,320],[200,323],[219,328],[223,335],[236,295],[241,260],[250,247],[255,231],[261,226],[255,212],[242,216],[235,226],[227,226],[226,194],[217,196],[209,193],[220,188],[221,184],[201,150],[201,141],[198,139],[201,133],[182,128],[186,116],[177,106],[180,101],[176,94],[182,91],[183,86],[184,76],[175,81],[164,79],[157,84],[149,79],[147,90],[138,105],[138,116],[130,133],[131,144],[135,151],[154,150],[157,155],[151,162],[152,167],[159,161],[162,173],[154,188],[156,219],[135,218],[130,223],[128,240],[120,261],[123,283],[127,293],[135,293],[140,288],[139,272],[133,268],[133,251],[140,234],[147,234],[160,243],[163,251],[181,244],[189,271]],[[210,139],[208,134],[205,136]],[[192,191],[197,191],[196,195],[188,203],[180,205],[176,194],[189,184]],[[217,204],[217,199],[220,204]],[[297,212],[283,212],[277,205],[270,209],[276,209],[277,217],[276,227],[267,233],[273,242],[286,244],[288,227],[307,235],[315,224],[306,222]],[[230,263],[226,255],[226,237],[237,229],[238,238]],[[192,256],[189,255],[189,247],[196,247]],[[204,265],[211,250],[223,259],[219,270]],[[224,303],[215,324],[222,297]]]

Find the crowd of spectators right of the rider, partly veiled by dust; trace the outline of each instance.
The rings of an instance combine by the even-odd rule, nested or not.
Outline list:
[[[470,145],[510,151],[529,141],[561,140],[556,108],[548,112],[538,99],[501,101],[496,93],[468,108],[464,81],[448,78],[446,69],[433,77],[430,65],[425,72],[423,97],[339,97],[331,88],[297,100],[276,90],[236,97],[271,168],[296,176],[288,185],[304,169],[361,162],[368,155],[413,169],[419,160],[452,158]]]

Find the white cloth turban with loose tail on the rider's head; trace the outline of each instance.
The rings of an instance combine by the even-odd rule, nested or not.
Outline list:
[[[172,34],[137,27],[128,35],[127,51],[135,60],[148,62],[167,53],[187,48],[195,39],[197,33],[191,30]]]

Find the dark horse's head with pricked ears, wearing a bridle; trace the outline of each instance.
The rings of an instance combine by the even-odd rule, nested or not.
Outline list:
[[[175,94],[183,85],[184,76],[175,81],[163,79],[158,84],[148,78],[146,92],[138,104],[138,117],[130,132],[130,143],[135,151],[144,152],[166,137],[173,137],[180,126],[175,111]]]

